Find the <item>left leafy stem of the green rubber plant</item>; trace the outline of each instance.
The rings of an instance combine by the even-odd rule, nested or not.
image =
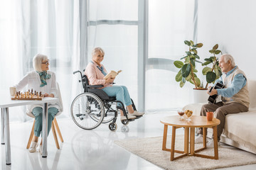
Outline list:
[[[175,79],[180,82],[181,87],[184,86],[186,81],[189,81],[195,85],[195,89],[203,89],[200,79],[196,76],[196,72],[198,72],[196,70],[196,62],[200,62],[197,48],[203,47],[203,44],[195,44],[192,40],[185,40],[184,43],[188,45],[188,51],[186,51],[186,56],[181,57],[181,60],[184,60],[183,62],[179,60],[174,62],[175,67],[180,69]]]

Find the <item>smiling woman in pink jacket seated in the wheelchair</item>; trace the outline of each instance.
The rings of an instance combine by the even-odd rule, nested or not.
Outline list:
[[[107,70],[105,67],[100,64],[104,59],[105,52],[102,50],[101,47],[95,47],[92,50],[92,60],[87,65],[85,69],[85,75],[89,80],[90,85],[100,85],[102,84],[102,90],[110,97],[116,97],[117,101],[122,101],[127,106],[128,119],[134,119],[137,116],[144,115],[144,113],[139,113],[134,111],[132,108],[132,101],[129,96],[129,91],[127,90],[126,86],[113,86],[112,83],[114,78],[109,77],[104,79],[107,75]],[[126,120],[127,118],[124,116],[124,113],[120,110],[121,113],[121,120]]]

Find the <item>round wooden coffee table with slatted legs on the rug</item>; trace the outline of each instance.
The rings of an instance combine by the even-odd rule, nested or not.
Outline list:
[[[217,118],[213,118],[212,121],[207,121],[206,116],[200,115],[192,115],[191,121],[188,120],[180,120],[179,115],[172,115],[160,120],[161,123],[164,124],[164,137],[163,137],[163,145],[162,150],[171,152],[171,161],[185,157],[185,156],[196,156],[203,157],[209,159],[218,159],[218,136],[217,136],[217,125],[220,124],[220,120]],[[167,129],[168,125],[172,126],[172,135],[171,135],[171,149],[166,148],[166,139],[167,139]],[[175,137],[176,137],[176,129],[184,128],[184,150],[179,151],[175,149]],[[195,150],[195,128],[203,128],[203,147]],[[214,140],[214,156],[208,156],[205,154],[197,154],[197,152],[206,149],[206,129],[213,128],[213,140]],[[190,137],[189,137],[190,130]],[[190,148],[188,147],[188,143],[190,142]],[[189,151],[190,149],[190,151]],[[178,157],[174,157],[174,152],[181,154]]]

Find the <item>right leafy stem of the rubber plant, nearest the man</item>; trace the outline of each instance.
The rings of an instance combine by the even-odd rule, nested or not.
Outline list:
[[[218,44],[213,46],[212,50],[209,50],[209,52],[211,54],[213,54],[212,57],[206,58],[205,61],[202,66],[206,66],[208,64],[212,64],[212,67],[204,67],[202,70],[203,75],[206,75],[206,89],[208,88],[208,84],[210,83],[214,83],[216,79],[220,78],[220,76],[222,75],[221,69],[218,66],[218,60],[219,58],[216,57],[216,55],[219,55],[222,52],[221,50],[218,50]]]

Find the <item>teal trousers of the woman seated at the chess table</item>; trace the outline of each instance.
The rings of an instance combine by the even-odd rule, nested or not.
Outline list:
[[[48,135],[55,115],[58,113],[58,108],[48,108]],[[34,134],[39,137],[43,127],[43,108],[33,108],[32,114],[35,116],[36,123],[34,128]]]

